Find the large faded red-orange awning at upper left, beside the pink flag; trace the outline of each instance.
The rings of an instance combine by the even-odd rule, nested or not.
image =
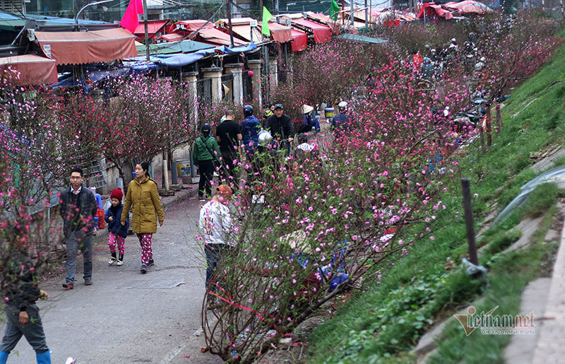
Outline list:
[[[88,64],[136,57],[133,34],[122,28],[89,32],[35,32],[47,58],[57,64]]]

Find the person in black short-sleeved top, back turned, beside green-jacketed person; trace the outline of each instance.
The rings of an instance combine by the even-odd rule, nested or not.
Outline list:
[[[237,189],[239,185],[235,168],[238,164],[239,141],[243,139],[241,129],[241,125],[235,121],[234,110],[227,110],[225,121],[216,128],[216,140],[222,153],[222,180],[234,189]]]

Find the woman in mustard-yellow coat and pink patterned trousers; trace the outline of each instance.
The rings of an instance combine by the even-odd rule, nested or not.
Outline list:
[[[121,225],[126,224],[129,209],[133,204],[133,233],[137,234],[141,244],[141,273],[147,273],[148,267],[155,264],[153,251],[151,249],[151,239],[157,233],[157,216],[162,226],[165,221],[161,200],[157,193],[157,184],[151,180],[147,172],[149,165],[147,162],[136,164],[136,178],[130,182],[124,211],[121,213]]]

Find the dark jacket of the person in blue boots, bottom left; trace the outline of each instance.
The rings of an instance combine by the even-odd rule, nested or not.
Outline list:
[[[20,311],[32,305],[40,298],[40,288],[37,287],[37,275],[30,270],[32,262],[27,252],[16,250],[6,267],[6,278],[13,280],[14,284],[6,291],[7,305],[18,307]]]

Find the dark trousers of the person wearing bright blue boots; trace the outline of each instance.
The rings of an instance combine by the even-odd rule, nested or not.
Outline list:
[[[6,329],[4,337],[0,345],[0,351],[9,353],[16,347],[18,341],[25,336],[28,343],[32,346],[36,353],[44,353],[48,351],[47,342],[45,341],[45,333],[41,324],[40,309],[35,305],[28,305],[29,321],[27,324],[20,324],[19,307],[6,305]]]

